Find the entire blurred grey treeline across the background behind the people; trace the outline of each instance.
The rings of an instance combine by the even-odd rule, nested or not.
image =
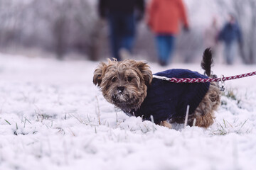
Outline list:
[[[149,2],[146,1],[146,2]],[[255,0],[184,0],[191,30],[178,36],[176,55],[183,62],[201,57],[203,31],[212,16],[220,28],[227,13],[234,13],[242,29],[242,61],[256,62]],[[97,16],[97,0],[0,0],[0,50],[38,48],[59,58],[78,52],[89,60],[110,57],[107,23]],[[138,24],[135,55],[156,60],[154,36]]]

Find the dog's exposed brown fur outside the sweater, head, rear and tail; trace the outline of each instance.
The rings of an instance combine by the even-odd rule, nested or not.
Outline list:
[[[204,54],[211,55],[210,51],[207,50]],[[210,74],[212,62],[203,60],[202,63],[208,68],[207,70]],[[151,81],[152,73],[149,65],[145,62],[136,62],[134,60],[121,62],[108,60],[107,64],[101,62],[95,69],[93,76],[93,83],[96,86],[100,86],[100,90],[106,100],[126,113],[137,111],[142,105],[144,98],[146,98],[147,86],[151,84]],[[188,125],[192,125],[193,120],[196,119],[196,126],[208,128],[213,124],[214,111],[217,110],[219,105],[220,90],[218,84],[210,83],[206,96],[204,96],[196,111],[188,116]],[[170,123],[184,123],[184,118],[164,120],[161,125],[171,128]]]

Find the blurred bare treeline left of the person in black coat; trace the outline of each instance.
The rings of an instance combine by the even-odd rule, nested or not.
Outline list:
[[[40,47],[58,57],[75,50],[94,59],[97,19],[87,0],[0,0],[0,45]]]

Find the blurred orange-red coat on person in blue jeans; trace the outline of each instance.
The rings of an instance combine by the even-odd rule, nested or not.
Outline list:
[[[154,33],[179,33],[180,21],[188,28],[182,0],[151,0],[147,10],[148,24]]]

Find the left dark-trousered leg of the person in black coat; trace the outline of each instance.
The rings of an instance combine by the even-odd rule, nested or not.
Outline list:
[[[112,51],[112,57],[120,60],[119,48],[120,48],[120,38],[119,38],[119,18],[114,14],[109,16],[109,26],[110,26],[110,46]]]

